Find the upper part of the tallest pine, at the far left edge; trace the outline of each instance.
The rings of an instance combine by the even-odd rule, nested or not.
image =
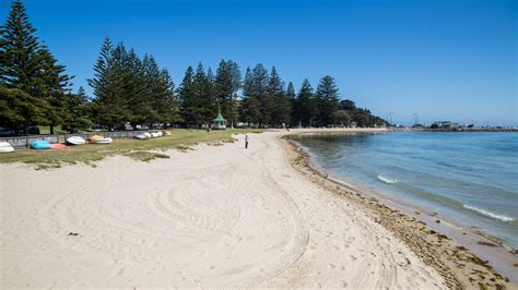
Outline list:
[[[0,82],[30,92],[38,73],[38,39],[22,1],[15,0],[0,34]]]

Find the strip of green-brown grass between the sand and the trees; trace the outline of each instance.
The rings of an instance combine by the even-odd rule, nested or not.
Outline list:
[[[179,149],[187,150],[199,143],[220,145],[232,143],[232,134],[260,133],[260,130],[174,130],[169,136],[150,140],[121,138],[114,140],[108,145],[87,144],[82,146],[68,146],[64,149],[17,149],[14,153],[1,154],[0,164],[25,162],[35,165],[36,169],[58,168],[63,164],[89,164],[103,159],[106,156],[125,155],[137,160],[149,161],[154,158],[167,158],[166,155],[150,150]]]

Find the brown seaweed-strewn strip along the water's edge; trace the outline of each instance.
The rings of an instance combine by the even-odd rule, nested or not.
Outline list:
[[[310,132],[304,131],[298,133]],[[423,262],[436,268],[446,280],[451,282],[449,287],[459,287],[461,285],[481,287],[480,283],[490,285],[492,287],[499,287],[496,286],[495,281],[501,279],[502,281],[506,281],[507,287],[518,288],[517,281],[515,280],[516,276],[510,275],[516,271],[516,266],[514,266],[509,259],[507,261],[507,265],[505,265],[507,266],[507,269],[503,271],[506,274],[506,276],[511,277],[513,280],[509,280],[508,277],[504,277],[501,275],[501,273],[497,273],[499,271],[499,269],[503,269],[504,266],[503,264],[498,264],[498,258],[502,258],[502,254],[513,255],[509,250],[506,250],[504,246],[495,249],[487,245],[479,245],[476,249],[474,249],[474,251],[466,249],[462,244],[467,242],[467,239],[464,239],[460,243],[458,242],[460,240],[459,238],[463,237],[461,231],[468,231],[470,233],[468,238],[471,239],[469,241],[473,242],[473,240],[475,239],[474,237],[476,234],[476,232],[473,232],[473,230],[461,227],[459,228],[459,232],[455,233],[452,229],[457,225],[445,225],[449,223],[449,220],[446,220],[446,222],[444,222],[443,225],[434,222],[437,219],[442,219],[442,217],[434,216],[433,213],[427,213],[426,210],[422,210],[415,206],[398,203],[398,201],[396,201],[395,198],[390,198],[389,196],[382,193],[367,189],[366,186],[362,186],[362,184],[352,184],[351,182],[344,181],[340,178],[330,174],[330,172],[327,172],[325,169],[318,166],[316,160],[314,160],[315,157],[311,156],[311,153],[307,148],[305,148],[296,141],[290,140],[289,137],[286,137],[287,135],[292,134],[286,134],[283,136],[284,141],[290,144],[289,146],[286,146],[286,148],[290,150],[294,150],[298,154],[297,161],[294,164],[294,166],[297,167],[301,172],[308,176],[310,179],[314,180],[314,182],[320,184],[329,191],[334,192],[338,195],[344,196],[345,200],[348,200],[349,202],[354,201],[355,203],[361,204],[364,207],[364,210],[368,214],[368,216],[370,216],[374,220],[376,220],[377,222],[386,227],[389,231],[395,233],[398,238],[400,238],[407,245],[409,245],[414,251],[417,256],[420,256],[420,258],[423,259]],[[393,209],[392,207],[396,209]],[[387,213],[381,214],[381,217],[377,213],[375,213],[379,209],[382,209],[381,212],[388,212],[388,216],[396,219],[401,219],[401,217],[404,216],[405,222],[410,221],[410,223],[414,225],[398,227],[397,223],[393,222],[396,221],[396,219],[392,221],[386,220]],[[412,229],[412,233],[410,234],[408,232],[409,228]],[[446,232],[447,235],[440,232]],[[422,239],[423,233],[425,235],[432,235],[435,239],[432,239],[432,243],[425,242],[423,243],[423,245],[419,245],[415,243],[415,240]],[[451,240],[449,237],[454,238],[455,241]],[[476,234],[476,239],[479,241],[483,239],[484,241],[491,243],[495,242],[491,239],[491,237],[486,237],[481,233]],[[473,244],[470,244],[469,246],[473,249]],[[444,255],[443,253],[438,253],[440,252],[439,249],[434,247],[439,247],[440,251],[448,254]],[[437,261],[434,261],[433,258],[434,255],[429,255],[431,252],[436,252],[436,257],[438,257],[438,261],[440,263],[447,265],[447,268],[444,268],[440,264],[437,264]],[[481,255],[481,253],[491,255],[491,262],[483,261],[476,256],[476,254]],[[492,265],[490,265],[490,263]],[[462,270],[456,270],[459,265],[463,265],[460,266],[461,268],[463,268]],[[493,265],[498,265],[498,269],[493,269]],[[467,266],[473,266],[475,270],[473,273],[468,273],[467,270],[464,270],[468,269]],[[448,271],[454,273],[454,276],[450,276]],[[485,275],[482,275],[482,271],[485,271]],[[486,277],[487,274],[494,277],[488,278]]]

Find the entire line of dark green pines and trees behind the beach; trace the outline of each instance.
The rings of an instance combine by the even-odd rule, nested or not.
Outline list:
[[[104,40],[83,87],[71,89],[66,67],[58,64],[49,48],[35,35],[24,4],[13,1],[5,24],[0,26],[0,126],[25,133],[28,125],[60,125],[68,132],[92,124],[123,129],[137,124],[175,124],[200,128],[210,124],[221,110],[228,125],[255,126],[358,126],[382,125],[385,121],[352,100],[341,100],[332,76],[323,76],[316,89],[304,80],[296,92],[275,67],[247,68],[222,60],[215,73],[199,63],[188,67],[178,87],[169,72],[151,55],[139,57],[122,43]]]

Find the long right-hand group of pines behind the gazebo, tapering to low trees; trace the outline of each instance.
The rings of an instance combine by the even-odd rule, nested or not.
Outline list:
[[[200,63],[195,72],[187,68],[184,81],[176,90],[181,104],[180,116],[186,125],[210,123],[217,107],[231,124],[246,122],[259,126],[361,126],[384,125],[385,121],[367,109],[356,108],[352,100],[340,100],[333,77],[323,76],[314,90],[305,80],[298,94],[292,82],[285,86],[275,67],[268,72],[259,63],[247,68],[242,80],[239,67],[222,60],[213,75]],[[243,96],[238,96],[238,92]]]

